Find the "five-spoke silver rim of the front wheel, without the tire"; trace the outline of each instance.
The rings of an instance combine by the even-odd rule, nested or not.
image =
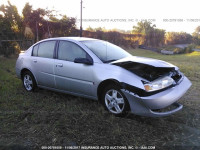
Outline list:
[[[107,109],[114,113],[120,114],[124,110],[124,98],[117,90],[111,89],[105,94],[105,104]]]

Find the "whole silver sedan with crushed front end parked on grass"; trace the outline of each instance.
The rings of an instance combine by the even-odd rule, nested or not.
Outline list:
[[[27,91],[40,87],[99,100],[117,116],[129,111],[151,117],[173,114],[182,109],[177,101],[191,86],[170,63],[79,37],[37,42],[19,55],[16,73]]]

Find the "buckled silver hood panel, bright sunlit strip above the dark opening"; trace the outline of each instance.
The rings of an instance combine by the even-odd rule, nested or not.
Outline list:
[[[146,64],[146,65],[150,65],[154,67],[162,67],[162,68],[176,67],[162,60],[138,57],[138,56],[131,56],[131,57],[119,59],[117,61],[112,62],[111,64],[120,64],[120,63],[125,63],[125,62],[133,62],[133,63],[135,62],[135,63]]]

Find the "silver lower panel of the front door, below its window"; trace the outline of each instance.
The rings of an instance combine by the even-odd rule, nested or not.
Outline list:
[[[94,96],[93,69],[93,65],[55,60],[54,70],[56,88],[69,92]]]

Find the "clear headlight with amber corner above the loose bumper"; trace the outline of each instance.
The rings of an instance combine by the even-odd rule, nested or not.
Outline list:
[[[174,83],[174,80],[171,77],[163,77],[157,80],[154,80],[150,83],[144,84],[144,88],[147,92],[157,91],[163,88],[166,88]]]

